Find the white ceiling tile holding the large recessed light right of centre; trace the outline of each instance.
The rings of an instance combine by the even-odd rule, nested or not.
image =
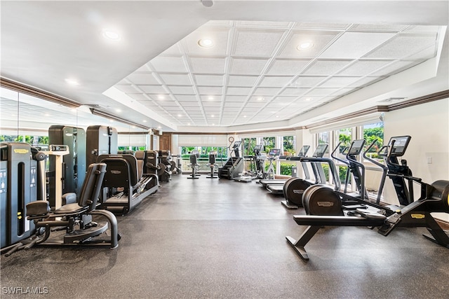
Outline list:
[[[337,32],[292,32],[279,57],[315,57],[335,39],[335,36]],[[304,42],[311,42],[314,46],[307,50],[297,50],[297,46]]]

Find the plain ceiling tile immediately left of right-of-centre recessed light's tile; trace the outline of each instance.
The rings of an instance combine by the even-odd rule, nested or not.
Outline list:
[[[271,56],[283,31],[237,29],[235,34],[236,46],[232,55]]]

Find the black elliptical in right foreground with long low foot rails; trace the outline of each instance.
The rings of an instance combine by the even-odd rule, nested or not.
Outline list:
[[[400,206],[379,204],[377,200],[366,200],[366,197],[353,197],[365,207],[356,209],[345,209],[341,204],[344,193],[334,192],[328,193],[326,199],[323,198],[321,204],[319,200],[307,200],[306,193],[310,190],[313,196],[313,186],[304,192],[303,204],[307,215],[295,215],[293,219],[298,225],[307,225],[299,239],[287,236],[287,242],[290,244],[297,254],[304,260],[309,260],[309,255],[304,246],[323,226],[366,226],[377,230],[380,234],[387,236],[397,227],[424,227],[427,228],[430,235],[424,235],[427,239],[449,248],[449,232],[443,230],[435,221],[431,213],[441,212],[449,213],[449,181],[438,180],[434,183],[424,183],[422,179],[411,175],[406,162],[398,163],[398,158],[404,155],[410,136],[391,137],[387,146],[387,176],[398,183],[396,195],[400,200]],[[372,146],[372,145],[371,145]],[[371,147],[370,146],[370,147]],[[362,176],[362,179],[364,177]],[[404,181],[402,184],[401,179]],[[382,181],[381,181],[382,183]],[[410,186],[417,183],[420,186],[420,198],[414,200],[413,192],[410,193]],[[413,187],[411,188],[413,190]],[[404,199],[403,195],[408,194],[408,198]],[[403,202],[401,202],[401,200]],[[340,210],[335,210],[340,202]],[[405,204],[405,205],[404,205]],[[325,209],[333,209],[328,215],[324,215]],[[316,210],[317,215],[315,214]]]

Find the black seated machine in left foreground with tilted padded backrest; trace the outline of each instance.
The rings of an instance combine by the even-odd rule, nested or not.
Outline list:
[[[98,210],[98,196],[102,186],[102,179],[105,176],[106,165],[95,163],[89,165],[86,178],[83,182],[81,193],[77,196],[75,203],[51,211],[50,202],[38,200],[27,204],[27,220],[32,221],[36,227],[36,233],[31,238],[8,246],[1,250],[11,255],[20,249],[30,249],[32,246],[43,245],[76,245],[76,246],[109,246],[111,249],[119,245],[119,231],[117,220],[110,211]],[[106,218],[107,221],[94,222],[93,216]],[[95,219],[96,220],[96,219]],[[93,239],[99,237],[107,230],[110,230],[108,238]],[[58,230],[65,230],[62,241]],[[57,235],[51,238],[52,232]],[[106,235],[106,234],[104,234]]]

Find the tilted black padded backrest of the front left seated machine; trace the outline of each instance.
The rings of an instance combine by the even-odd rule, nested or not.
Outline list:
[[[95,209],[98,197],[100,196],[100,190],[102,181],[105,177],[106,164],[105,163],[93,163],[88,166],[86,177],[81,187],[81,193],[78,197],[77,203],[80,207],[89,206],[89,211]]]

